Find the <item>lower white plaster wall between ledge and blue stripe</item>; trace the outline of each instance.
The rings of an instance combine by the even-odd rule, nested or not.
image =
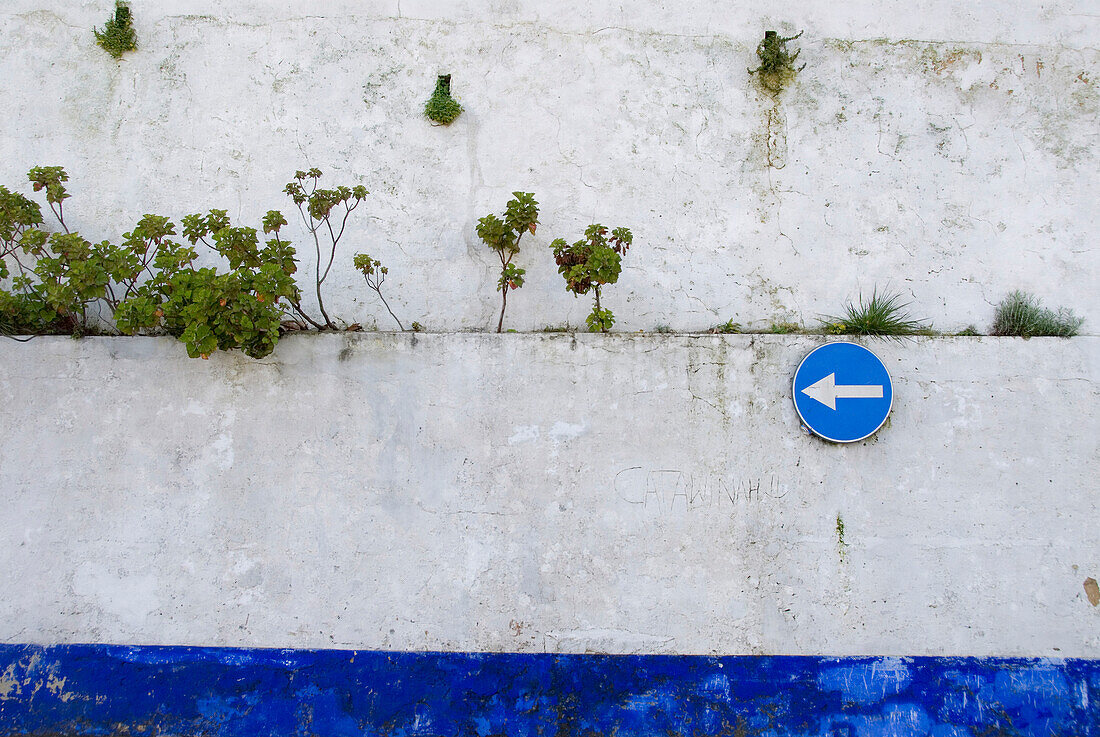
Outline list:
[[[0,344],[0,641],[1100,657],[1100,339]]]

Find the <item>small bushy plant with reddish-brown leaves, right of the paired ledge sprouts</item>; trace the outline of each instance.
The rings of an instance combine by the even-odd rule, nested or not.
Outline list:
[[[626,228],[614,229],[608,238],[607,229],[594,223],[585,229],[584,238],[572,245],[561,238],[550,244],[565,288],[574,296],[588,292],[595,296],[592,314],[584,320],[590,332],[607,332],[615,324],[615,316],[600,304],[600,288],[618,282],[623,255],[632,242],[634,235]]]

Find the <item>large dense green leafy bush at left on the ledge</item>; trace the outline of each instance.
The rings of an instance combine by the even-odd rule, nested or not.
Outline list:
[[[84,334],[111,319],[122,333],[166,332],[191,356],[241,349],[262,358],[278,342],[284,300],[297,304],[295,251],[279,235],[286,219],[276,210],[263,220],[271,238],[234,227],[224,210],[189,215],[182,221],[187,244],[174,240],[168,218],[144,216],[119,244],[91,243],[65,224],[65,170],[31,169],[35,191],[44,191],[64,232],[43,229],[33,200],[0,187],[0,330],[7,334]],[[229,268],[199,266],[201,243]],[[14,272],[12,271],[14,270]],[[105,309],[100,322],[94,311]]]

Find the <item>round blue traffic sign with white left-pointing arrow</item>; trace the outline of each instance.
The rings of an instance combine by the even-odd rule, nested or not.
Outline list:
[[[893,406],[890,373],[856,343],[815,348],[794,372],[794,409],[811,432],[855,442],[882,427]]]

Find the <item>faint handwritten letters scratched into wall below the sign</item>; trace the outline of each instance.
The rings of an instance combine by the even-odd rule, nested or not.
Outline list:
[[[791,490],[778,476],[723,477],[636,465],[615,474],[617,498],[662,514],[736,509],[781,499]]]

